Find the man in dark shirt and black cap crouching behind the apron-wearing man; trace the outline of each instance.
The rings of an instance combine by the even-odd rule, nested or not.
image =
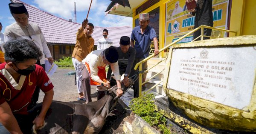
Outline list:
[[[133,69],[133,63],[135,59],[136,50],[135,48],[130,46],[130,37],[128,36],[122,36],[120,39],[120,46],[116,48],[119,57],[118,57],[118,66],[119,66],[119,73],[120,75],[125,74],[124,79],[122,80],[122,83],[125,86],[129,86],[129,77],[132,77],[134,74],[136,74],[136,71]],[[108,69],[108,76],[107,79],[110,79],[111,77],[111,68]],[[110,85],[114,86],[116,85],[115,80],[111,77]],[[139,83],[138,79],[134,81],[134,98],[139,97]]]

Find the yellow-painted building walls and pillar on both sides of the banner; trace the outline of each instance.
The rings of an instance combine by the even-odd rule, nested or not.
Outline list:
[[[145,0],[143,3],[145,3]],[[157,7],[160,8],[159,15],[159,49],[164,47],[165,41],[165,20],[166,20],[166,3],[173,0],[160,0],[157,4],[149,7],[141,13],[148,13]],[[138,5],[141,6],[143,3]],[[236,36],[240,35],[256,35],[256,0],[232,0],[231,17],[230,17],[230,30],[236,31]],[[139,18],[139,14],[135,15],[133,9],[133,27],[135,26],[135,20]],[[150,24],[149,24],[150,25]],[[234,34],[230,34],[230,37]],[[162,53],[160,57],[166,57],[166,54]]]

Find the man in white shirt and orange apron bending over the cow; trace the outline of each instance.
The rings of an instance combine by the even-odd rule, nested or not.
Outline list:
[[[114,79],[117,83],[117,91],[116,95],[121,96],[123,91],[121,87],[121,76],[119,74],[119,68],[118,68],[118,53],[116,51],[116,48],[113,46],[105,49],[105,50],[95,50],[90,52],[86,56],[84,60],[82,60],[82,63],[85,64],[85,67],[83,68],[82,75],[82,87],[84,88],[84,97],[86,99],[86,102],[89,103],[92,101],[90,96],[90,85],[94,86],[105,86],[110,87],[110,82],[106,79],[106,70],[105,66],[109,65],[111,69],[113,70]],[[99,88],[97,88],[99,89]],[[98,90],[98,100],[104,97],[105,91],[99,91]]]

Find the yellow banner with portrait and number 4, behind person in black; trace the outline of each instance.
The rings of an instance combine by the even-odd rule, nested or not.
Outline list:
[[[165,46],[187,34],[194,29],[195,16],[186,10],[186,0],[174,0],[166,3],[166,34]],[[213,26],[226,29],[227,27],[228,0],[212,1]],[[220,35],[219,31],[212,30],[212,34]],[[221,35],[224,37],[224,35]],[[186,43],[193,40],[193,34],[178,43]]]

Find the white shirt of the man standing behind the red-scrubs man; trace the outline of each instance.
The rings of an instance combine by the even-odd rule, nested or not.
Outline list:
[[[4,31],[4,40],[5,42],[13,39],[27,39],[32,40],[36,46],[43,53],[42,59],[40,60],[40,64],[45,63],[44,54],[47,58],[52,57],[51,52],[46,44],[46,40],[44,35],[40,29],[40,27],[35,24],[29,22],[27,26],[21,26],[18,23],[13,23],[6,27]]]

